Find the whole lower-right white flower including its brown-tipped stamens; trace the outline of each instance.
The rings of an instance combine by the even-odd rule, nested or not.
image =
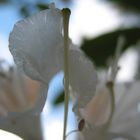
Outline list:
[[[116,57],[109,75],[105,80],[99,80],[95,96],[77,114],[80,119],[78,140],[138,140],[140,138],[138,108],[140,83],[134,82],[129,85],[114,83],[119,68],[118,59],[122,43],[123,38],[119,38]]]

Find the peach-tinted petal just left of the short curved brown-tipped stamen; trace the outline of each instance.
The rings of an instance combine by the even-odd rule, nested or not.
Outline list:
[[[83,111],[85,120],[94,125],[101,126],[107,123],[111,113],[110,91],[106,86],[98,86],[96,95],[87,104]]]

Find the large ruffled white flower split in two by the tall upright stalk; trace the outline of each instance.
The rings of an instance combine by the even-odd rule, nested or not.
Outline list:
[[[62,18],[61,10],[52,7],[17,22],[10,34],[9,48],[15,63],[45,89],[37,110],[44,106],[51,78],[64,67]],[[96,72],[93,63],[75,47],[69,49],[69,75],[74,108],[84,107],[94,95]]]

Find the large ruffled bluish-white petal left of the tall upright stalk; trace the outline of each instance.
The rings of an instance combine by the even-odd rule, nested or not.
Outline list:
[[[9,38],[9,48],[21,70],[48,84],[62,66],[62,15],[47,9],[17,22]]]

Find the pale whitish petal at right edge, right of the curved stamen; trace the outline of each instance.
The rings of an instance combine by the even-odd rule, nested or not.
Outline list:
[[[126,133],[137,139],[140,138],[140,82],[126,86],[125,90],[117,88],[115,96],[116,111],[110,127],[110,131]]]

